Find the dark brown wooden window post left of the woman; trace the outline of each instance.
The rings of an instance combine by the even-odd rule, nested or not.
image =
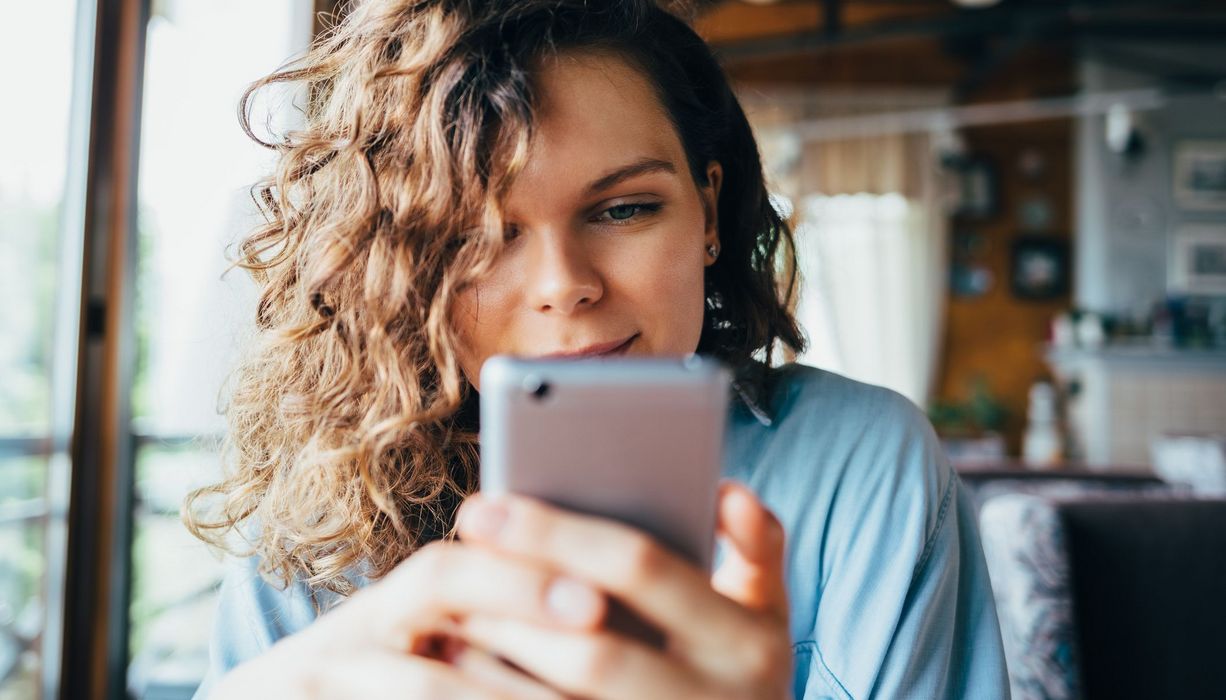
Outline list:
[[[80,287],[67,281],[80,298],[63,306],[76,314],[75,382],[65,384],[63,402],[72,419],[50,445],[60,444],[71,466],[63,568],[49,565],[48,604],[63,602],[63,612],[48,617],[43,688],[48,698],[121,700],[132,577],[136,190],[151,0],[81,2],[92,12],[93,44],[80,257],[66,256],[80,261]],[[345,7],[315,0],[314,10],[318,36]]]

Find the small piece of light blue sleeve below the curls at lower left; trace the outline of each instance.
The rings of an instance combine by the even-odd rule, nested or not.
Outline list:
[[[316,617],[303,586],[277,588],[260,576],[257,564],[251,557],[227,565],[208,640],[208,672],[192,700],[207,700],[232,668],[264,653]]]

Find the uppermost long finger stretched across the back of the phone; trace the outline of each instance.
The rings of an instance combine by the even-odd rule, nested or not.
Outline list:
[[[676,649],[734,644],[754,622],[750,611],[716,593],[705,573],[619,522],[526,498],[476,495],[465,501],[459,525],[465,541],[542,561],[607,590],[657,625]]]

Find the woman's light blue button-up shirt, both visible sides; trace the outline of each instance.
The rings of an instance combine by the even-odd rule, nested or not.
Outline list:
[[[767,400],[738,384],[725,471],[787,530],[796,698],[1009,698],[973,510],[923,413],[828,371],[772,371]],[[196,698],[314,618],[303,585],[238,563]]]

